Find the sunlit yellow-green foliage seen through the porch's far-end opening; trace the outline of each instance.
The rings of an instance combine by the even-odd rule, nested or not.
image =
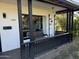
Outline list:
[[[61,31],[66,31],[66,14],[58,14],[56,16],[56,29],[59,30],[60,28]]]

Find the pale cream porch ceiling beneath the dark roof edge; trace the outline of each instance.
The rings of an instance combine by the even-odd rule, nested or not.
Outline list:
[[[23,6],[27,6],[28,5],[28,0],[22,0],[22,5]],[[41,1],[41,0],[40,0]],[[44,9],[51,9],[51,8],[54,8],[56,11],[60,11],[60,10],[65,10],[65,8],[61,7],[61,6],[56,6],[56,5],[51,5],[51,4],[47,4],[47,3],[43,3],[43,2],[40,2],[40,1],[36,1],[36,0],[33,0],[32,1],[32,6],[34,8],[36,7],[41,7],[41,8],[44,8]],[[8,4],[17,4],[17,0],[0,0],[0,2],[2,3],[8,3]]]

